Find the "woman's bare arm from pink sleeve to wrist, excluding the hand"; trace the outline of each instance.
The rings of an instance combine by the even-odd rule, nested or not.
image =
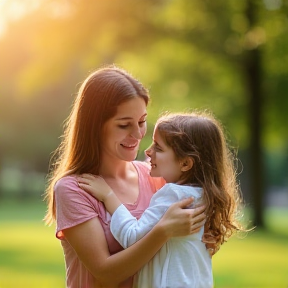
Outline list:
[[[165,227],[159,222],[134,245],[110,256],[98,218],[66,229],[64,235],[79,259],[103,287],[117,287],[133,276],[169,238]]]

